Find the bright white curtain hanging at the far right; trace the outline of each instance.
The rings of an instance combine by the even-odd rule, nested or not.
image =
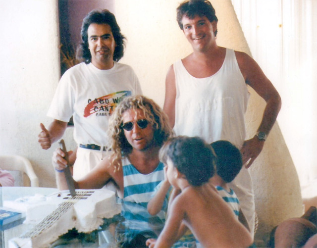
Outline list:
[[[281,95],[277,121],[301,186],[316,183],[317,0],[231,1],[253,58]]]

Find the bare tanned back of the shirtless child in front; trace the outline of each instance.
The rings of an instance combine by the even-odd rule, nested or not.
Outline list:
[[[177,201],[175,207],[182,206],[185,224],[203,247],[249,247],[252,244],[248,230],[236,220],[232,209],[210,184],[187,187]]]

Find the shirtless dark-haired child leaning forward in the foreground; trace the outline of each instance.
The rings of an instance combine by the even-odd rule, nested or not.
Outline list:
[[[185,224],[203,247],[249,247],[253,239],[211,185],[215,154],[201,138],[179,136],[160,150],[168,182],[180,194],[169,206],[155,247],[171,247]]]

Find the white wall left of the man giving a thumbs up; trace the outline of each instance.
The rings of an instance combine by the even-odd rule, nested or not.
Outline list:
[[[37,136],[59,80],[57,1],[0,5],[0,154],[26,156],[40,186],[55,187],[53,149],[42,150]]]

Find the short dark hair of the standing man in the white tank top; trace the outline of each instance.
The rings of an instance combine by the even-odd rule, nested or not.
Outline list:
[[[176,9],[177,13],[177,22],[181,30],[183,30],[183,16],[187,16],[189,19],[195,18],[198,16],[206,16],[210,22],[218,21],[216,17],[216,11],[211,5],[211,2],[208,0],[187,0],[182,2]],[[217,35],[217,30],[214,32],[214,36]]]

